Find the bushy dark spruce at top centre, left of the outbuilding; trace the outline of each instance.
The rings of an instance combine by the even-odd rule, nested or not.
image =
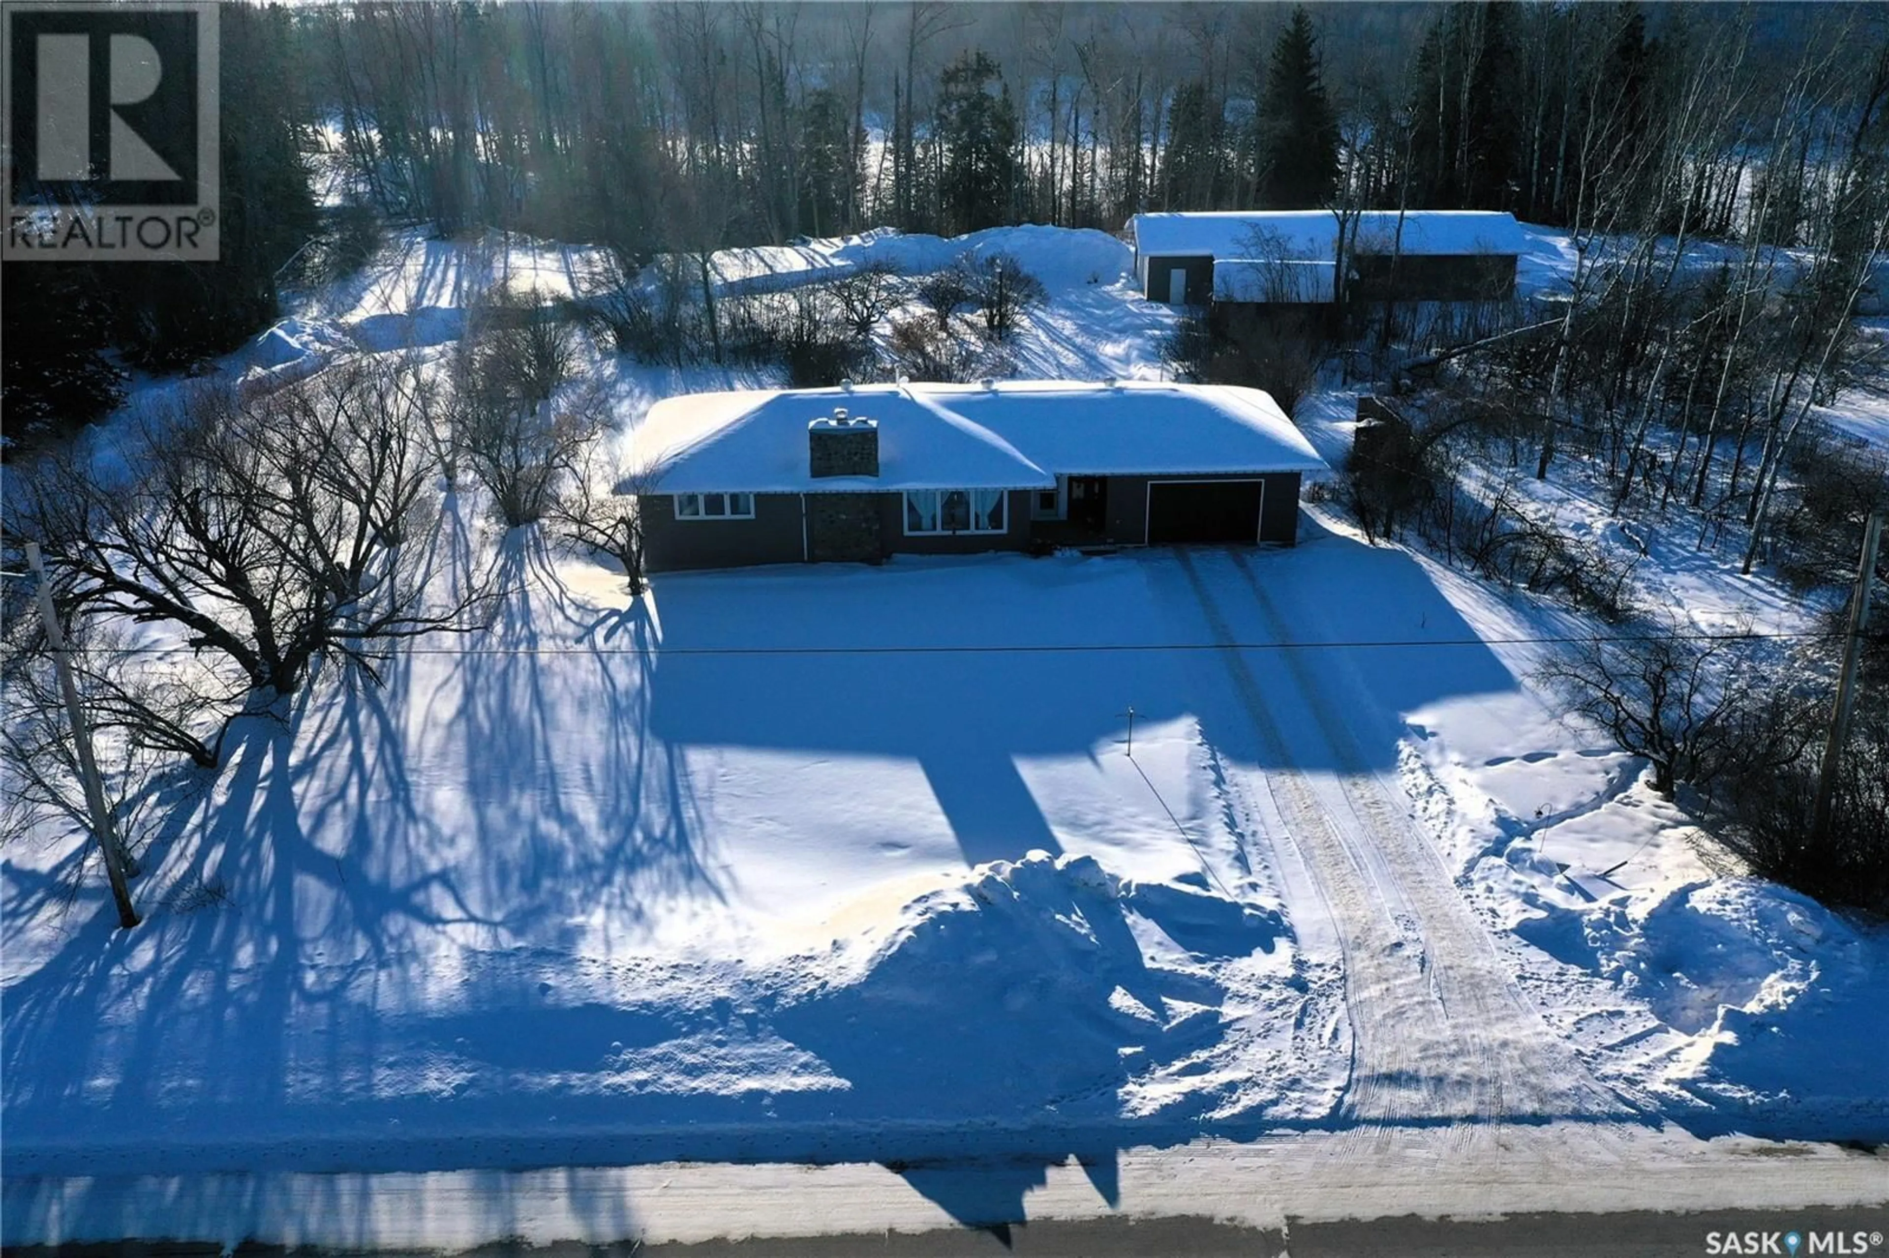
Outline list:
[[[999,91],[992,93],[990,83]],[[946,234],[1003,223],[1016,191],[1020,128],[1001,87],[1003,74],[982,51],[965,53],[939,76],[939,204]]]

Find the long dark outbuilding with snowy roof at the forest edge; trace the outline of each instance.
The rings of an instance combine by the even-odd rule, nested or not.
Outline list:
[[[1481,300],[1515,291],[1528,238],[1490,210],[1366,210],[1337,274],[1337,215],[1328,210],[1137,213],[1128,221],[1135,280],[1173,306],[1317,306],[1337,283],[1362,300]]]

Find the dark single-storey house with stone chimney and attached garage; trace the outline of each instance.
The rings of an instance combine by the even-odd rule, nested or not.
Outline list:
[[[650,408],[631,463],[652,572],[1290,544],[1326,468],[1266,393],[1158,382],[693,393]]]

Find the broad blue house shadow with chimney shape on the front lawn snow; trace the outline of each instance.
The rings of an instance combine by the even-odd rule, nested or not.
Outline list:
[[[1515,689],[1407,553],[1311,523],[1288,552],[669,576],[657,610],[659,739],[912,759],[969,865],[1058,852],[1016,761],[1120,742],[1130,705],[1137,722],[1196,716],[1222,752],[1279,767],[1234,727],[1230,667],[1268,706],[1347,688],[1341,746],[1292,739],[1307,771],[1394,767],[1404,712]]]

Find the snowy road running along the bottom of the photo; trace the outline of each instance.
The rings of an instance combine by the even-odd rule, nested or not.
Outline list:
[[[659,1164],[8,1181],[0,1218],[6,1237],[51,1232],[68,1241],[253,1239],[334,1252],[487,1247],[482,1254],[563,1241],[689,1258],[1001,1254],[1005,1237],[1018,1254],[1175,1258],[1290,1247],[1292,1258],[1628,1256],[1704,1254],[1706,1233],[1732,1226],[1889,1230],[1889,1150],[1698,1141],[1676,1128],[1619,1122],[1462,1128],[1387,1126],[1371,1143],[1311,1131],[1124,1148],[1086,1167],[1073,1160],[905,1173],[871,1164]],[[1005,1203],[1020,1188],[1014,1211]],[[979,1201],[992,1205],[992,1216],[980,1218]],[[1727,1211],[1740,1215],[1730,1220]]]

